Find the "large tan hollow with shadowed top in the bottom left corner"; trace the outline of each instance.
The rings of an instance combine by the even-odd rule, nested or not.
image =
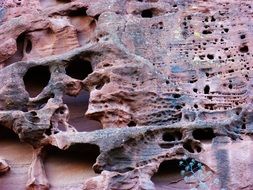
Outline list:
[[[11,167],[8,173],[0,176],[0,189],[15,190],[25,187],[27,173],[32,162],[32,146],[20,142],[17,134],[0,125],[0,154],[1,158],[4,158]]]

